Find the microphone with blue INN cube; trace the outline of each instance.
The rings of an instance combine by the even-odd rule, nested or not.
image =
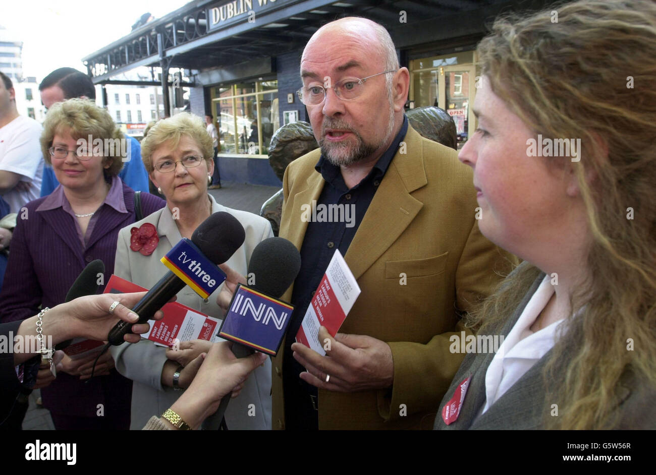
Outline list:
[[[249,285],[238,284],[218,335],[233,341],[232,352],[245,358],[253,351],[276,356],[294,310],[279,297],[293,284],[300,271],[300,254],[285,238],[260,242],[248,266]],[[216,412],[203,422],[203,429],[217,430],[230,402],[224,396]]]

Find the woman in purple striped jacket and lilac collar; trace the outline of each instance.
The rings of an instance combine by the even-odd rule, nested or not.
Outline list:
[[[136,221],[134,191],[117,176],[127,144],[106,110],[88,100],[68,100],[49,109],[43,129],[44,159],[60,185],[18,214],[0,293],[1,322],[62,303],[94,259],[105,265],[104,276],[98,276],[102,292],[113,273],[118,232]],[[142,193],[142,216],[164,204]],[[39,371],[35,387],[43,387],[43,405],[58,430],[129,428],[132,382],[113,369],[110,352],[89,380],[96,356],[64,356],[54,380],[49,370]]]

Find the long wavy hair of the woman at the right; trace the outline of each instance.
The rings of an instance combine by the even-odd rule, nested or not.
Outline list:
[[[656,387],[656,4],[582,0],[497,18],[478,56],[495,94],[536,133],[581,138],[572,166],[592,234],[590,277],[571,295],[543,374],[545,426],[616,427],[621,378]],[[518,268],[470,325],[498,330],[539,273]],[[547,417],[554,401],[559,416]]]

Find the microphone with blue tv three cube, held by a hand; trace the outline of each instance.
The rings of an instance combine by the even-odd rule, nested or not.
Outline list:
[[[182,238],[162,257],[162,263],[170,270],[134,305],[132,310],[139,316],[138,323],[151,320],[185,285],[201,297],[209,297],[226,279],[216,264],[230,259],[244,239],[245,231],[232,214],[218,212],[205,219],[191,240]],[[121,345],[123,335],[132,333],[132,326],[133,323],[124,321],[117,323],[107,337],[108,345]]]

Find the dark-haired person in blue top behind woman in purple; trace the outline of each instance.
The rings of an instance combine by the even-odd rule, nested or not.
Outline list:
[[[89,76],[72,67],[60,67],[52,71],[41,81],[39,91],[41,92],[41,102],[47,109],[50,109],[52,104],[72,98],[96,100],[96,87]],[[139,142],[125,134],[122,134],[122,138],[128,140],[129,151],[119,178],[134,191],[148,193],[148,174],[141,161]],[[52,168],[46,166],[43,170],[41,196],[50,195],[58,184]]]

